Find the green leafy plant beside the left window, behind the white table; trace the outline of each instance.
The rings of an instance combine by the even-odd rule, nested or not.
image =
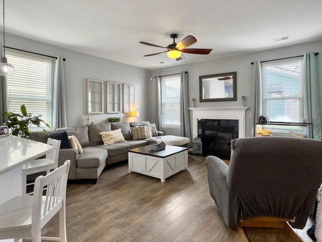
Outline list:
[[[20,110],[21,114],[4,112],[8,119],[6,125],[11,130],[12,135],[28,139],[31,133],[31,126],[35,125],[42,128],[41,123],[45,124],[46,127],[50,129],[49,125],[43,119],[39,118],[41,115],[32,116],[32,113],[28,113],[25,104],[21,105]]]

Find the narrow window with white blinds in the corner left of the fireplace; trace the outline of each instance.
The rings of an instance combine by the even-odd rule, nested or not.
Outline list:
[[[161,78],[162,126],[180,126],[180,75]]]

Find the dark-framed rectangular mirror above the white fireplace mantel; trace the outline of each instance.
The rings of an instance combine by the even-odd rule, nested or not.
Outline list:
[[[236,81],[236,72],[200,76],[200,102],[236,101]]]

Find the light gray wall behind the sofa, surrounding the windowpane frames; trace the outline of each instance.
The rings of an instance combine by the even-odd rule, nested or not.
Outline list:
[[[137,120],[148,120],[151,116],[149,107],[150,71],[148,70],[10,34],[6,34],[6,46],[50,56],[60,55],[66,58],[64,73],[68,127],[87,124],[87,78],[134,84],[136,109],[140,112],[140,117]],[[104,92],[106,93],[106,83],[104,84]],[[104,99],[105,113],[91,114],[92,121],[97,124],[106,123],[109,116],[120,116],[122,122],[134,121],[134,117],[130,117],[129,114],[107,114],[106,95]]]

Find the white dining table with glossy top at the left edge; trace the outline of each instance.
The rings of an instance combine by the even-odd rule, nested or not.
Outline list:
[[[53,149],[51,145],[17,136],[0,137],[0,203],[22,195],[22,165]]]

